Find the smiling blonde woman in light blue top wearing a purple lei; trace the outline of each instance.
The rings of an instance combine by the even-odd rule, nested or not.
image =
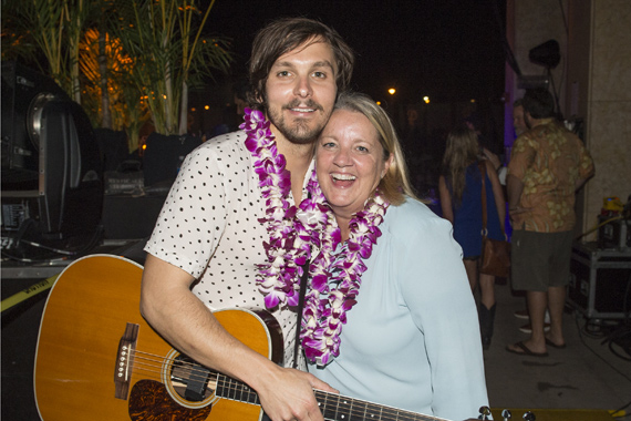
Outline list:
[[[316,170],[321,191],[311,185],[311,202],[324,201],[321,192],[332,213],[303,311],[309,371],[343,396],[476,418],[487,396],[461,247],[414,198],[386,113],[365,95],[341,94]],[[299,217],[322,216],[307,214]]]

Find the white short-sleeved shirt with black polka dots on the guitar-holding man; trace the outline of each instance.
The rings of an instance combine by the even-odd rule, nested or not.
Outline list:
[[[265,201],[245,140],[241,131],[221,135],[186,157],[145,246],[195,277],[193,292],[213,310],[265,308],[256,265],[266,261],[262,242],[269,237],[259,223]],[[293,204],[291,196],[289,202]],[[285,366],[290,367],[297,315],[287,307],[272,314],[282,328]]]

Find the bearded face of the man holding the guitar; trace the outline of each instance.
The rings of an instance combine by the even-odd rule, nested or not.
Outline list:
[[[337,72],[325,42],[300,45],[273,63],[266,82],[267,113],[287,140],[307,144],[318,137],[335,103]]]

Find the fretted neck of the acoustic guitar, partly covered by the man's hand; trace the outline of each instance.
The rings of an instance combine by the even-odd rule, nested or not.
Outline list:
[[[320,411],[328,421],[447,421],[322,390],[314,392]],[[223,399],[260,405],[257,392],[224,374],[217,376],[215,394]]]

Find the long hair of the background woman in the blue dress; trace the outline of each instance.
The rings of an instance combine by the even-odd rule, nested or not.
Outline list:
[[[443,175],[447,185],[452,187],[455,204],[459,204],[463,199],[466,168],[478,161],[478,155],[479,144],[473,130],[458,127],[449,132],[445,156],[443,156]]]

